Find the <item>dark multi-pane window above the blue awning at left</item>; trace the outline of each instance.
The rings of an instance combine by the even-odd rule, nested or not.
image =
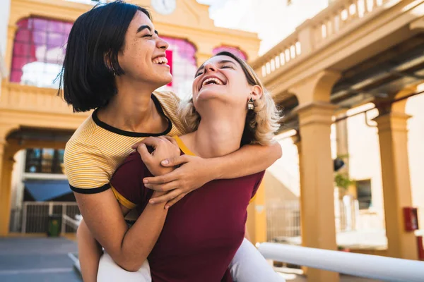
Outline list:
[[[25,172],[27,173],[63,173],[63,149],[27,149]]]

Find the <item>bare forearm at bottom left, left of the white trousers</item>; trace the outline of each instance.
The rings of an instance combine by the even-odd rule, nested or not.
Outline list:
[[[96,282],[102,247],[91,235],[88,226],[81,221],[76,232],[78,239],[78,259],[84,282]]]

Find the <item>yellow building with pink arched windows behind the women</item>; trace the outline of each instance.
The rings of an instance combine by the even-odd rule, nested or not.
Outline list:
[[[218,51],[230,48],[249,61],[257,58],[256,34],[216,27],[208,6],[196,0],[170,1],[175,6],[151,0],[129,2],[151,6],[155,27],[170,44],[167,52],[172,56],[174,80],[165,88],[181,97],[189,95],[196,68]],[[78,212],[69,202],[73,197],[62,172],[63,149],[88,113],[72,113],[57,97],[55,78],[73,20],[93,4],[85,0],[11,0],[2,11],[10,8],[8,22],[0,21],[7,27],[6,42],[1,42],[6,51],[0,56],[0,62],[4,58],[4,64],[0,63],[4,66],[0,68],[2,236],[10,231],[43,232],[49,214],[73,216]],[[33,222],[37,216],[43,216],[41,227]],[[63,230],[67,231],[66,226]]]

